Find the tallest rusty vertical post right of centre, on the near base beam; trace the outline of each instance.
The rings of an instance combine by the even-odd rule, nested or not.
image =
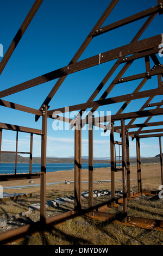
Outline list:
[[[124,119],[121,119],[122,132],[122,182],[123,182],[123,223],[127,222],[127,169],[126,169],[126,141]]]

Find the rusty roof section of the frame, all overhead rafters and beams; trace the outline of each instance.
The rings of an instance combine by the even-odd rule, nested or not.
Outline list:
[[[18,42],[21,40],[23,33],[26,31],[26,28],[28,27],[30,21],[33,19],[36,11],[39,9],[42,1],[36,0],[32,9],[29,11],[26,19],[22,23],[22,26],[18,30],[14,40],[12,40],[11,45],[5,54],[5,56],[2,59],[2,62],[0,64],[0,74],[2,73],[5,65],[7,64],[12,52],[14,52],[15,47],[17,46]],[[149,24],[152,22],[154,17],[157,14],[162,14],[162,1],[158,0],[158,4],[156,4],[154,7],[149,8],[147,10],[143,10],[140,13],[131,15],[125,19],[122,19],[120,21],[111,23],[110,25],[102,27],[104,21],[111,13],[112,9],[115,8],[116,4],[118,3],[118,0],[112,0],[109,4],[108,8],[104,11],[103,15],[100,17],[96,25],[92,28],[92,31],[87,35],[86,39],[84,40],[83,44],[80,46],[79,50],[76,52],[74,57],[71,59],[70,63],[65,66],[64,68],[60,68],[58,70],[54,70],[52,72],[49,72],[47,74],[44,74],[42,76],[33,78],[32,80],[23,82],[21,84],[18,84],[17,86],[10,87],[9,89],[2,90],[0,92],[0,97],[5,97],[11,94],[15,94],[17,92],[20,92],[22,90],[26,90],[28,88],[37,86],[41,83],[45,83],[47,81],[52,81],[55,78],[59,78],[57,83],[55,83],[54,87],[52,88],[51,92],[46,97],[45,101],[42,103],[40,109],[33,109],[29,107],[25,107],[22,105],[18,105],[13,102],[4,101],[1,100],[1,106],[9,107],[9,108],[15,108],[20,111],[25,111],[28,113],[35,114],[35,120],[37,121],[39,117],[42,115],[42,107],[50,103],[53,96],[61,86],[62,82],[65,80],[67,75],[72,74],[73,72],[78,72],[83,69],[90,68],[95,65],[99,65],[105,62],[109,62],[110,60],[117,59],[115,64],[112,66],[112,68],[109,70],[108,74],[104,77],[103,81],[99,84],[99,86],[95,89],[93,94],[90,96],[90,98],[85,103],[81,103],[78,105],[70,106],[69,108],[63,107],[58,109],[52,109],[48,111],[48,118],[54,118],[62,121],[66,121],[68,123],[75,123],[76,118],[78,118],[78,115],[80,117],[82,114],[86,111],[87,108],[92,108],[91,113],[95,112],[99,106],[104,105],[110,105],[117,102],[124,102],[122,107],[117,111],[115,115],[111,116],[111,120],[120,120],[122,118],[124,119],[131,119],[128,127],[136,120],[136,118],[139,118],[141,116],[148,117],[145,121],[145,124],[148,123],[148,121],[152,118],[155,114],[162,114],[161,112],[161,106],[162,102],[159,103],[150,103],[154,96],[156,95],[162,95],[162,81],[161,77],[163,75],[163,65],[159,62],[158,58],[156,57],[156,53],[158,53],[158,47],[162,42],[162,34],[152,36],[151,38],[139,40],[140,36],[143,34],[143,32],[146,30],[146,28],[149,26]],[[103,33],[109,32],[112,29],[116,29],[118,27],[125,26],[131,22],[135,22],[137,20],[143,19],[145,17],[148,17],[146,22],[143,24],[143,26],[140,28],[139,32],[134,36],[133,40],[131,40],[130,44],[124,45],[118,48],[115,48],[113,50],[109,50],[107,52],[103,52],[100,54],[97,54],[96,56],[81,60],[78,62],[79,57],[82,55],[82,53],[85,51],[86,47],[90,44],[91,40],[93,38],[96,38],[96,36],[99,36]],[[20,34],[21,32],[21,34]],[[138,41],[139,40],[139,41]],[[130,68],[130,65],[134,62],[136,59],[144,58],[145,59],[145,72],[142,72],[141,74],[135,74],[128,77],[122,77],[124,73]],[[154,66],[151,68],[151,59],[154,62]],[[103,95],[99,97],[99,100],[93,101],[95,97],[98,95],[98,93],[102,90],[105,83],[109,80],[109,78],[114,74],[116,69],[120,64],[126,63],[121,71],[118,73],[118,75],[115,77],[115,79],[109,84],[109,87],[105,90]],[[140,89],[144,86],[144,84],[151,79],[153,76],[158,77],[158,87],[156,89],[151,90],[145,90],[141,91]],[[115,87],[116,84],[120,84],[128,81],[134,81],[142,79],[141,83],[137,86],[137,88],[134,90],[133,93],[121,95],[121,96],[115,96],[115,97],[109,97],[106,98],[111,90]],[[122,114],[124,109],[129,105],[129,103],[132,100],[135,99],[142,99],[148,97],[146,103],[140,108],[139,112],[133,113],[126,113]],[[153,109],[151,111],[143,111],[147,107],[154,107],[156,106],[155,111]],[[48,106],[49,108],[49,106]],[[68,110],[67,110],[68,109]],[[79,114],[74,120],[67,119],[64,117],[60,117],[59,115],[53,115],[54,111],[60,111],[62,113],[65,113],[66,111],[74,111],[79,110]],[[87,118],[87,117],[86,117]],[[104,117],[105,119],[105,117]],[[86,119],[85,119],[86,120]],[[104,130],[107,130],[109,125],[102,125],[100,123],[94,123],[97,126],[104,127]],[[140,127],[139,130],[134,131],[135,132],[141,132],[143,127]],[[117,129],[116,129],[117,131]],[[152,130],[151,130],[152,131]],[[134,135],[133,133],[133,135]],[[131,134],[131,132],[130,132]]]

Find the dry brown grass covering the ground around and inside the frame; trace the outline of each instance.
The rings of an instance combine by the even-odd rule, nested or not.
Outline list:
[[[115,174],[116,180],[122,179],[122,173]],[[137,167],[130,168],[131,190],[137,190]],[[94,181],[110,180],[110,168],[99,168],[94,170]],[[61,171],[47,173],[47,183],[63,181],[61,184],[47,185],[46,200],[54,200],[60,197],[73,195],[74,183],[65,184],[64,181],[73,181],[73,171]],[[82,181],[88,180],[88,170],[82,170]],[[34,185],[40,184],[40,180],[34,180]],[[28,180],[1,182],[3,187],[29,185]],[[158,190],[161,185],[160,165],[142,164],[142,188],[144,190]],[[111,182],[94,183],[94,190],[110,190]],[[88,184],[82,183],[82,192],[88,190]],[[116,181],[116,190],[122,190],[122,181]],[[7,200],[0,205],[0,216],[9,212],[11,215],[27,211],[29,205],[40,203],[40,186],[32,186],[23,189],[4,189],[7,193],[32,193],[31,197],[22,197],[15,200]],[[109,196],[94,199],[94,204],[108,200]],[[163,199],[140,197],[128,201],[128,215],[163,220],[162,208]],[[47,217],[57,215],[73,209],[73,203],[48,208]],[[87,208],[87,200],[82,200],[82,207]],[[109,212],[122,212],[122,206],[110,209]],[[36,211],[30,220],[39,220],[40,213]],[[96,222],[87,220],[84,217],[77,217],[66,221],[59,227],[53,228],[45,234],[38,234],[34,237],[17,243],[18,245],[163,245],[162,231],[146,230],[136,227],[126,227],[116,223]]]

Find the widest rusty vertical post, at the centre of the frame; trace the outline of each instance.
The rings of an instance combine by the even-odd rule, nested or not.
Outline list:
[[[76,124],[74,130],[74,210],[80,212],[82,208],[82,132]]]

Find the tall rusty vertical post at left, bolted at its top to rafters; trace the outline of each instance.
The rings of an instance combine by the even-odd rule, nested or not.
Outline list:
[[[46,148],[47,148],[47,106],[44,107],[42,115],[42,136],[41,136],[41,186],[40,186],[40,221],[46,221]]]

